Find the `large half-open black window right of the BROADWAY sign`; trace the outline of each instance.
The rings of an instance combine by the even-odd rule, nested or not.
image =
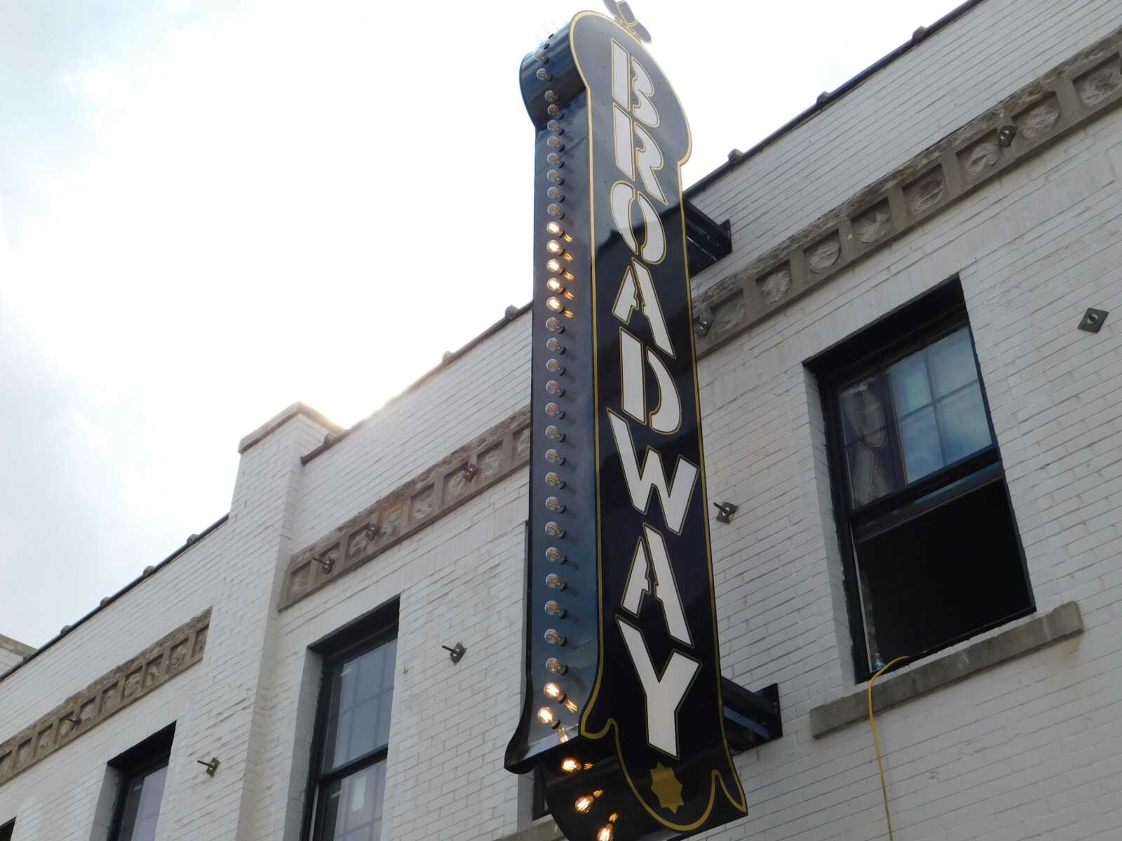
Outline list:
[[[859,680],[1033,610],[962,287],[815,360]]]

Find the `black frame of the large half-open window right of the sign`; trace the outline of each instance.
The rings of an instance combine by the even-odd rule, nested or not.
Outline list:
[[[886,370],[901,359],[934,344],[962,327],[967,330],[971,350],[974,353],[982,405],[990,428],[990,446],[946,464],[912,482],[904,482],[898,490],[886,492],[861,506],[854,506],[842,427],[839,400],[842,390],[863,376]],[[857,335],[844,340],[837,346],[808,361],[807,367],[816,376],[825,420],[830,496],[844,570],[844,589],[856,681],[858,683],[865,682],[873,674],[873,669],[870,668],[870,651],[862,609],[863,600],[854,551],[855,535],[858,529],[861,529],[862,539],[868,539],[890,528],[929,514],[987,484],[1000,482],[1005,502],[1009,506],[1020,562],[1019,569],[1023,575],[1024,589],[1028,594],[1028,607],[949,637],[938,645],[916,651],[910,655],[908,663],[914,663],[964,639],[1036,612],[1036,597],[1032,592],[1024,547],[1009,496],[1001,449],[990,413],[990,399],[986,395],[985,381],[982,377],[974,343],[974,332],[971,329],[958,278],[951,278],[919,299],[867,326]],[[889,434],[895,443],[894,424],[890,423],[889,427]]]

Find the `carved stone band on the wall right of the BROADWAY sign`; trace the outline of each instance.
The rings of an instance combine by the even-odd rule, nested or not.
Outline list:
[[[868,185],[708,289],[695,313],[711,324],[711,352],[853,268],[905,232],[992,183],[1122,102],[1122,29]],[[1015,127],[1009,146],[1002,129]]]

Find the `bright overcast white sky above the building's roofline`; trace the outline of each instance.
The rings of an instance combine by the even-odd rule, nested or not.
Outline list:
[[[687,183],[956,4],[632,3]],[[0,634],[222,516],[284,406],[349,425],[530,299],[518,63],[580,8],[0,0]]]

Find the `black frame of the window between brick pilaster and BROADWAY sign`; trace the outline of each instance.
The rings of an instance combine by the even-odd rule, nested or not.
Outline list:
[[[355,757],[330,771],[323,770],[324,751],[327,748],[328,722],[331,715],[332,690],[335,676],[343,664],[374,650],[378,646],[390,643],[398,637],[398,600],[383,604],[369,613],[339,629],[331,636],[309,646],[319,654],[322,660],[320,688],[315,704],[315,731],[312,737],[311,763],[309,767],[307,793],[304,808],[304,821],[301,829],[303,841],[321,841],[323,839],[323,822],[327,810],[322,808],[322,793],[338,779],[347,777],[364,768],[370,768],[385,763],[389,754],[389,736],[386,743]],[[396,668],[396,656],[395,656]],[[393,705],[390,705],[390,722],[393,722]]]

